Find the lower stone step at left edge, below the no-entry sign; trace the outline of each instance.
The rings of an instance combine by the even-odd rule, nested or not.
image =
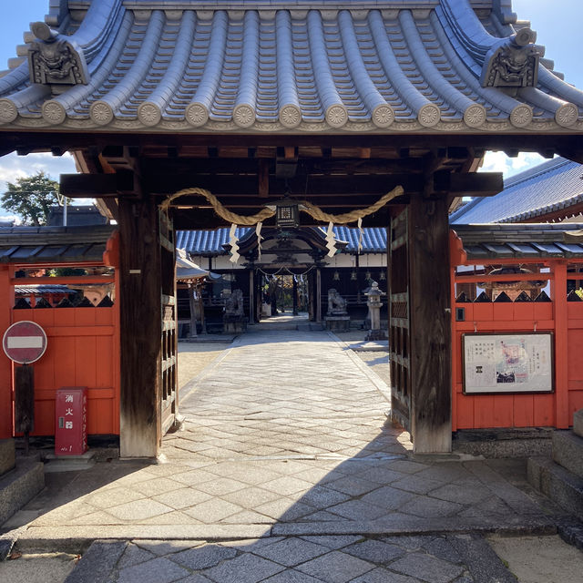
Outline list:
[[[18,458],[15,469],[0,477],[0,524],[45,487],[44,464],[37,457]]]

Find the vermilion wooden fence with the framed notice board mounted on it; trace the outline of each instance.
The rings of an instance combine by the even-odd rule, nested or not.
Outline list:
[[[464,261],[452,249],[452,265]],[[460,275],[452,269],[452,424],[453,430],[487,427],[547,426],[568,428],[573,413],[583,408],[583,302],[568,302],[568,280],[581,275],[568,274],[567,266],[583,260],[548,258],[492,260],[496,264],[544,263],[548,273],[532,275]],[[551,302],[456,302],[455,284],[501,280],[550,281]],[[455,321],[455,308],[465,308],[465,321]],[[554,343],[554,386],[552,394],[464,394],[462,335],[467,332],[552,332]]]

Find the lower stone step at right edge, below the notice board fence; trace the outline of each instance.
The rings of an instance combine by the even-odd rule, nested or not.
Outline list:
[[[569,513],[583,520],[583,478],[548,457],[530,457],[528,482]]]

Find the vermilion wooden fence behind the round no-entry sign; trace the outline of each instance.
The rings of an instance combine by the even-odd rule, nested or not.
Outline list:
[[[71,266],[71,265],[67,265]],[[35,367],[35,431],[55,435],[56,390],[87,386],[87,434],[119,434],[119,311],[109,307],[14,309],[15,266],[0,266],[0,331],[14,322],[30,320],[44,328],[46,353]],[[114,282],[118,276],[50,278],[51,283]],[[94,281],[95,280],[95,281]],[[41,281],[38,281],[39,283]],[[14,365],[0,354],[0,438],[14,435]]]

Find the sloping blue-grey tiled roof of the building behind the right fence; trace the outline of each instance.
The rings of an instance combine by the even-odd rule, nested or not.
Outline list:
[[[474,199],[450,217],[456,223],[519,222],[566,210],[583,202],[583,166],[549,160],[505,180],[494,197]]]

